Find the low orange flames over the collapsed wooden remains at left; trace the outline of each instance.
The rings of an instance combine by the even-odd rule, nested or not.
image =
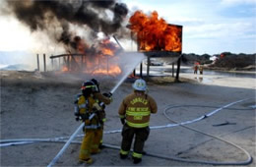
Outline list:
[[[115,56],[118,46],[105,38],[91,47],[86,42],[77,39],[76,52],[80,56],[70,54],[65,58],[62,72],[83,72],[91,75],[118,76],[122,73],[118,66],[118,57]]]

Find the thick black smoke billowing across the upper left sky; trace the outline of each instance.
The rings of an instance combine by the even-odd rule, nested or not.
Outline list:
[[[6,0],[6,4],[9,13],[32,31],[61,27],[55,39],[66,45],[74,38],[70,24],[112,34],[122,28],[128,13],[127,6],[115,0]]]

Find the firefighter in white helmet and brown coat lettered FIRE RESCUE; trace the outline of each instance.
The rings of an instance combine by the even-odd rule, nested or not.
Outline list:
[[[146,93],[147,84],[144,80],[136,80],[133,88],[134,92],[123,99],[118,110],[123,124],[120,158],[128,157],[135,136],[132,157],[133,163],[137,164],[142,161],[144,143],[150,135],[151,113],[158,112],[158,105],[155,99]]]

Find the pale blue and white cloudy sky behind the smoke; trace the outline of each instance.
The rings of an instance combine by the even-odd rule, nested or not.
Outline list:
[[[183,53],[256,53],[256,0],[118,1],[128,6],[130,15],[136,10],[146,14],[157,11],[167,23],[182,26]],[[41,40],[34,38],[30,29],[14,18],[0,16],[0,26],[0,51],[36,52],[42,47],[54,51],[43,35]]]

